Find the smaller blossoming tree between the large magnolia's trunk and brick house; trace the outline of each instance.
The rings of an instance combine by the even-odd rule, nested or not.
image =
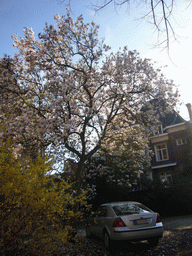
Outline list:
[[[142,125],[130,124],[130,120],[119,116],[109,125],[100,150],[85,163],[85,179],[92,188],[89,197],[95,196],[97,187],[103,182],[132,189],[148,170],[152,152],[149,133]]]

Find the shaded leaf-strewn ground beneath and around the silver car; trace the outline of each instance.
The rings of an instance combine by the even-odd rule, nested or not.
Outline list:
[[[192,215],[163,217],[164,235],[156,248],[149,248],[144,241],[121,245],[117,251],[109,253],[104,249],[103,241],[97,238],[84,239],[86,252],[62,255],[115,255],[115,256],[192,256]],[[85,229],[79,230],[79,235],[85,238]]]

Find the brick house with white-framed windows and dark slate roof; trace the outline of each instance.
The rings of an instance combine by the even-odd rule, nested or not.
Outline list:
[[[191,104],[187,104],[190,120]],[[165,114],[150,138],[154,152],[151,161],[151,178],[171,184],[187,161],[187,122],[175,111]]]

